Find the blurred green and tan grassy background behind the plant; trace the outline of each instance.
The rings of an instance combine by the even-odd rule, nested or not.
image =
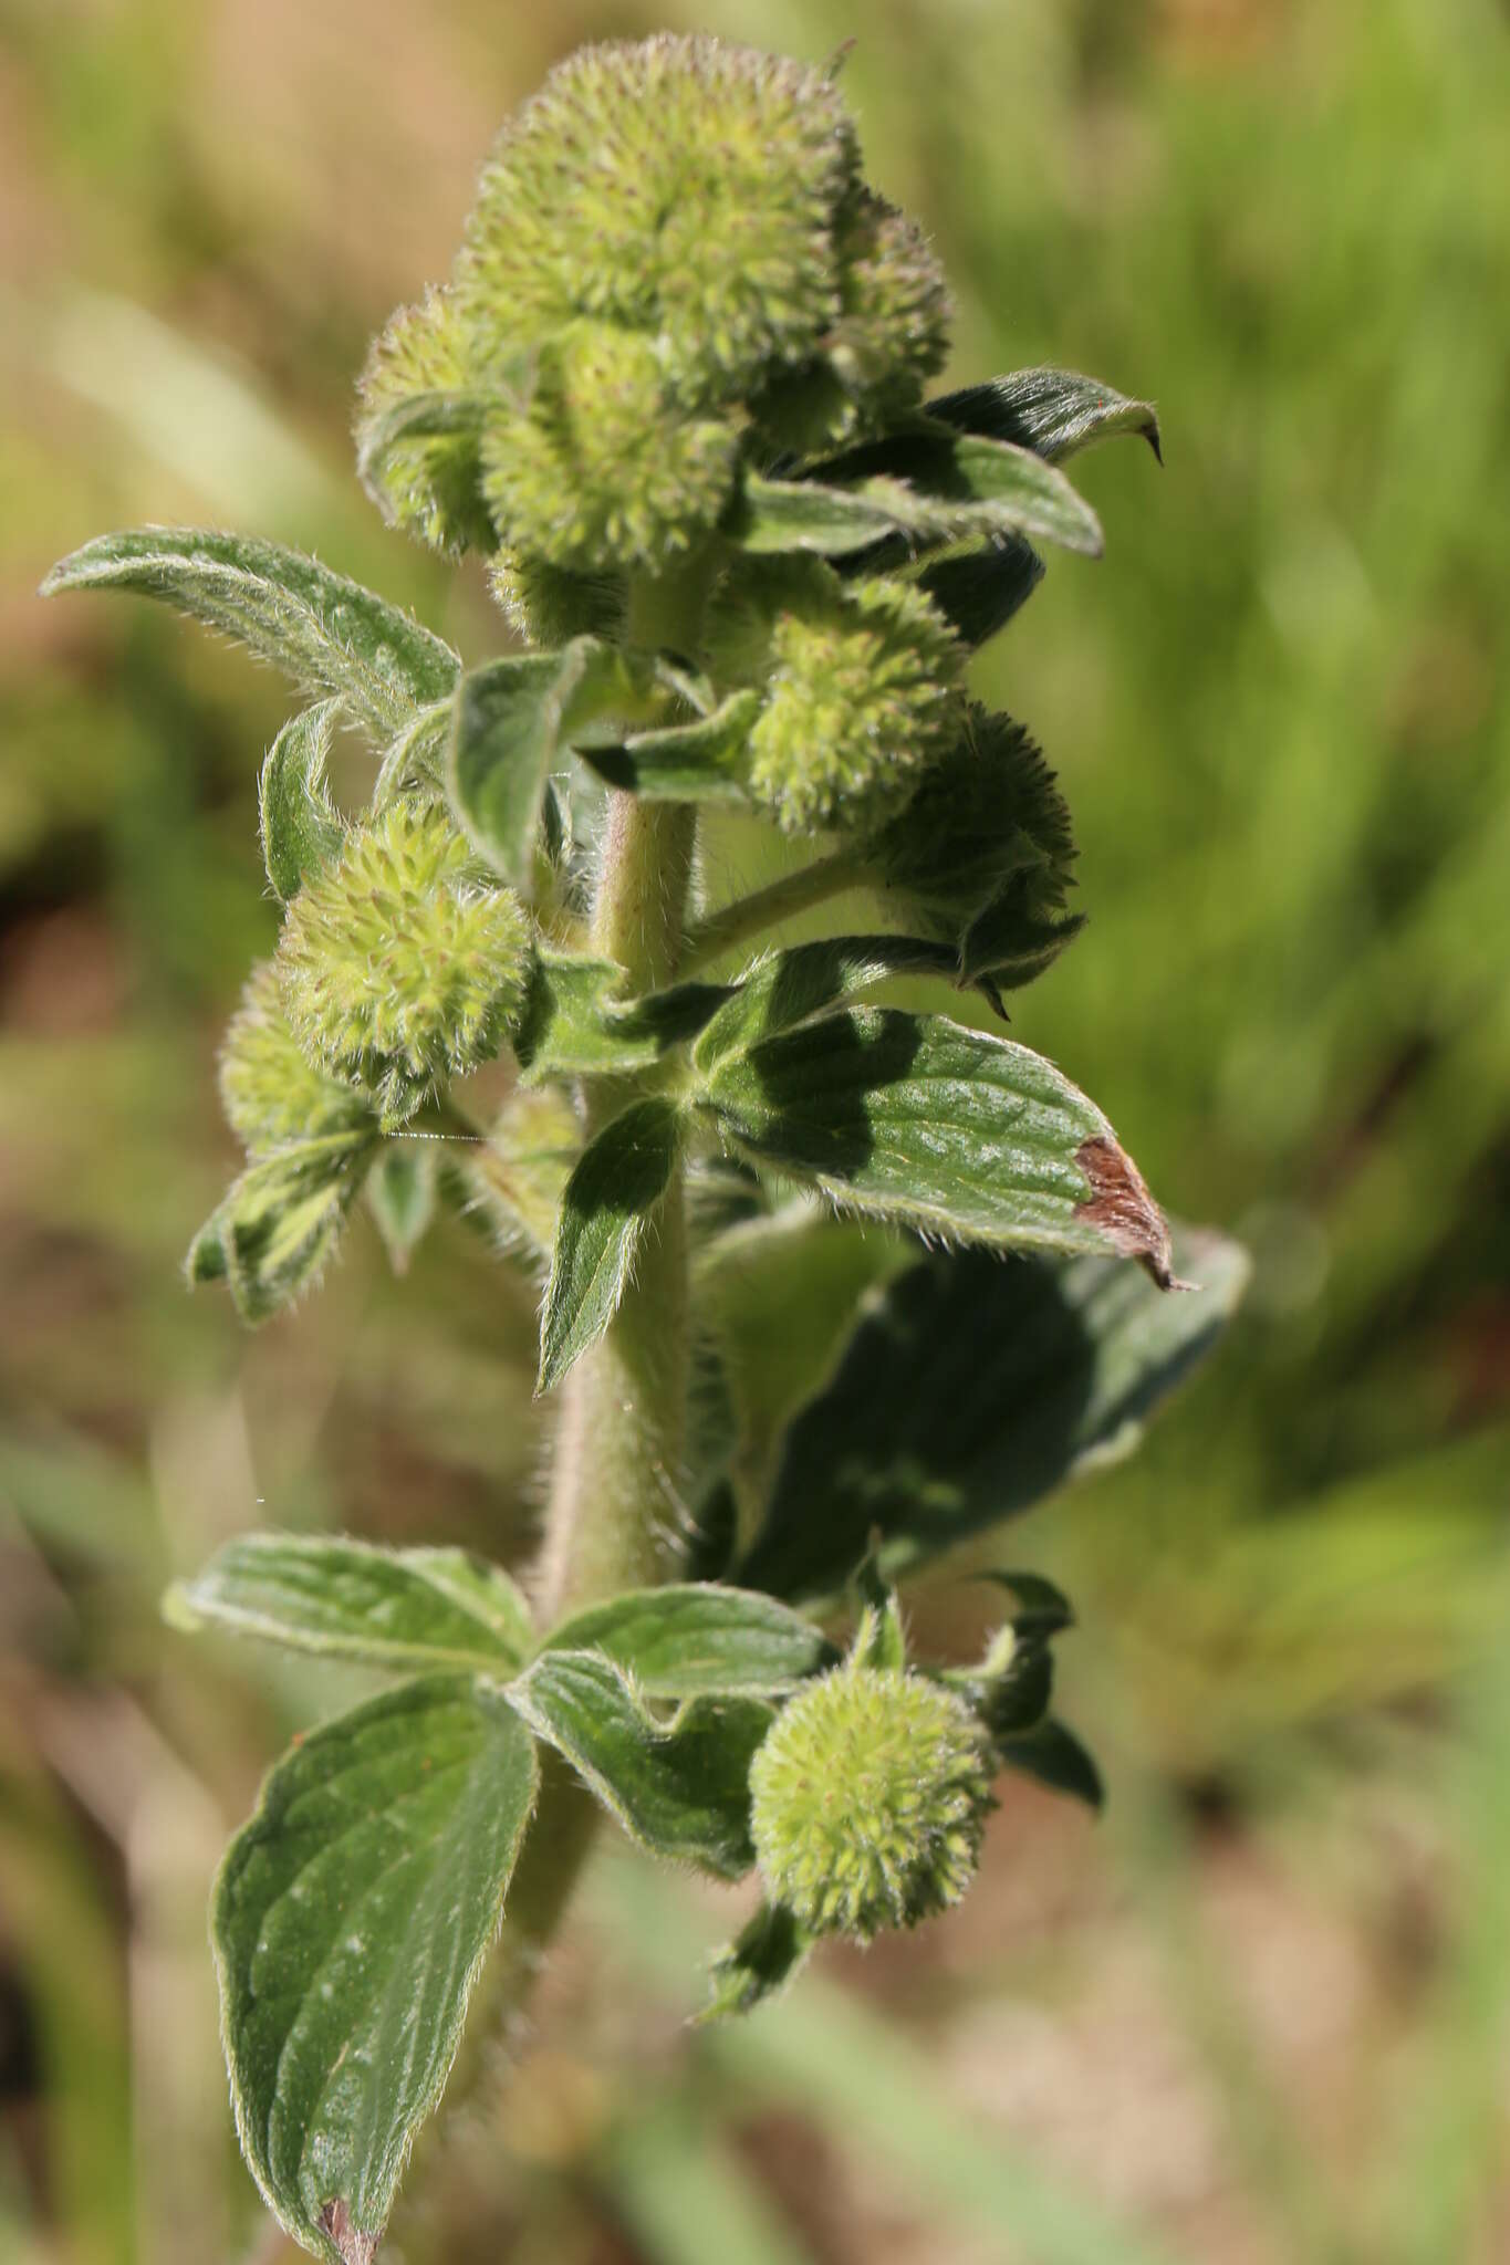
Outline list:
[[[498,120],[582,39],[849,34],[869,170],[955,281],[953,383],[1159,403],[980,664],[1091,926],[1014,1010],[1157,1191],[1254,1250],[1064,1576],[1089,1826],[1014,1792],[944,1928],[690,2034],[729,1898],[589,1887],[503,2102],[394,2249],[518,2265],[1494,2265],[1510,2254],[1510,18],[1490,0],[0,0],[0,2258],[260,2265],[204,1896],[344,1687],[156,1617],[251,1524],[530,1545],[527,1291],[371,1239],[238,1334],[179,1257],[269,947],[281,686],[43,607],[145,519],[419,607],[346,424]],[[715,861],[727,883],[747,856]],[[727,870],[722,870],[727,867]],[[969,1640],[967,1590],[917,1601]]]

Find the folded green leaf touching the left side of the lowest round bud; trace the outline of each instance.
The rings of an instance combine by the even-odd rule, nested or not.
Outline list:
[[[543,1651],[507,1696],[654,1855],[749,1871],[749,1762],[774,1719],[761,1699],[688,1699],[659,1721],[598,1651]]]

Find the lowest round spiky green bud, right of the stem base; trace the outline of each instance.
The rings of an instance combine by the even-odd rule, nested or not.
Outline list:
[[[973,1880],[989,1744],[944,1685],[849,1660],[781,1710],[749,1794],[770,1898],[813,1934],[865,1943],[949,1909]]]

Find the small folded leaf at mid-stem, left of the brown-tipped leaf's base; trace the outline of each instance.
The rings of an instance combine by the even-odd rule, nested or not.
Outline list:
[[[677,983],[623,999],[623,985],[625,972],[614,960],[537,954],[509,1033],[527,1083],[650,1069],[670,1046],[695,1037],[731,994],[727,983]]]

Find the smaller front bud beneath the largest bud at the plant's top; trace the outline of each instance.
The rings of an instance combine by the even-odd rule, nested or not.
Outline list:
[[[539,351],[530,401],[482,433],[482,487],[512,548],[602,573],[659,566],[720,519],[738,435],[668,399],[650,337],[577,322]]]

